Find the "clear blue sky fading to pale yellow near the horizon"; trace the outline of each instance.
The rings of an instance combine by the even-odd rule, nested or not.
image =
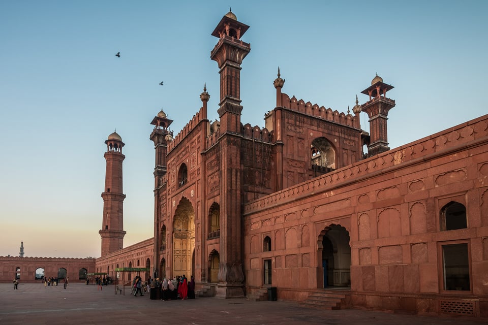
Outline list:
[[[0,256],[21,241],[24,256],[100,256],[115,129],[126,144],[124,246],[154,236],[150,122],[163,109],[176,136],[204,83],[218,118],[211,32],[230,7],[250,26],[242,123],[264,126],[278,67],[283,92],[339,112],[356,95],[366,102],[378,73],[394,86],[390,148],[488,113],[486,1],[0,0]]]

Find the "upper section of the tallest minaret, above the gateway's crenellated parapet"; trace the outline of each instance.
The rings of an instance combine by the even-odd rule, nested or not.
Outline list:
[[[251,44],[240,38],[249,26],[237,21],[229,11],[212,32],[219,42],[210,52],[210,58],[217,61],[220,74],[219,117],[221,133],[240,131],[240,64],[251,51]]]

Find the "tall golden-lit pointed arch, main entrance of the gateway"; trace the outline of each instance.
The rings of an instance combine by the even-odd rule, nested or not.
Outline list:
[[[192,274],[192,253],[195,249],[195,210],[182,198],[173,217],[173,274]]]

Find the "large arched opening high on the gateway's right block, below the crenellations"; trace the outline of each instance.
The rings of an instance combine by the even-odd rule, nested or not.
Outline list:
[[[324,137],[315,139],[312,141],[310,150],[314,176],[335,170],[335,149],[327,139]]]

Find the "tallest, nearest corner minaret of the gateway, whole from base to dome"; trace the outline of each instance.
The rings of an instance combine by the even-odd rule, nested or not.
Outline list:
[[[240,40],[249,28],[237,21],[229,11],[219,22],[212,36],[219,38],[210,53],[217,61],[220,74],[220,251],[216,296],[244,297],[241,198],[241,123],[240,64],[251,45]]]

